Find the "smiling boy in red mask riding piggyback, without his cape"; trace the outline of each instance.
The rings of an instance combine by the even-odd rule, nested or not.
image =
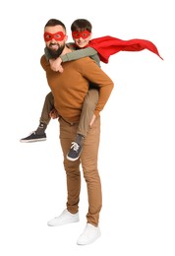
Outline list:
[[[84,48],[89,43],[91,38],[91,24],[85,19],[76,20],[72,26],[71,30],[73,32],[73,39],[75,43],[68,43],[68,46],[74,50]],[[48,34],[46,36],[49,36]],[[45,56],[47,60],[50,62],[51,68],[55,70],[55,65],[58,71],[63,72],[59,63],[62,61],[70,61],[82,57],[90,56],[98,66],[99,65],[99,57],[97,55],[96,50],[93,48],[86,48],[82,51],[73,51],[66,55],[60,56],[57,60],[50,59],[49,53],[45,48]],[[82,152],[83,141],[87,136],[87,131],[89,125],[91,126],[95,116],[93,115],[96,103],[98,101],[98,91],[95,89],[95,85],[89,85],[89,91],[84,101],[83,111],[77,131],[77,136],[75,138],[75,142],[72,143],[71,149],[67,155],[68,160],[78,160],[80,154]],[[50,119],[59,118],[59,114],[54,108],[54,98],[52,93],[50,92],[44,101],[44,105],[41,112],[40,123],[38,128],[32,132],[28,137],[21,139],[21,142],[36,142],[36,141],[44,141],[46,140],[45,130]]]

